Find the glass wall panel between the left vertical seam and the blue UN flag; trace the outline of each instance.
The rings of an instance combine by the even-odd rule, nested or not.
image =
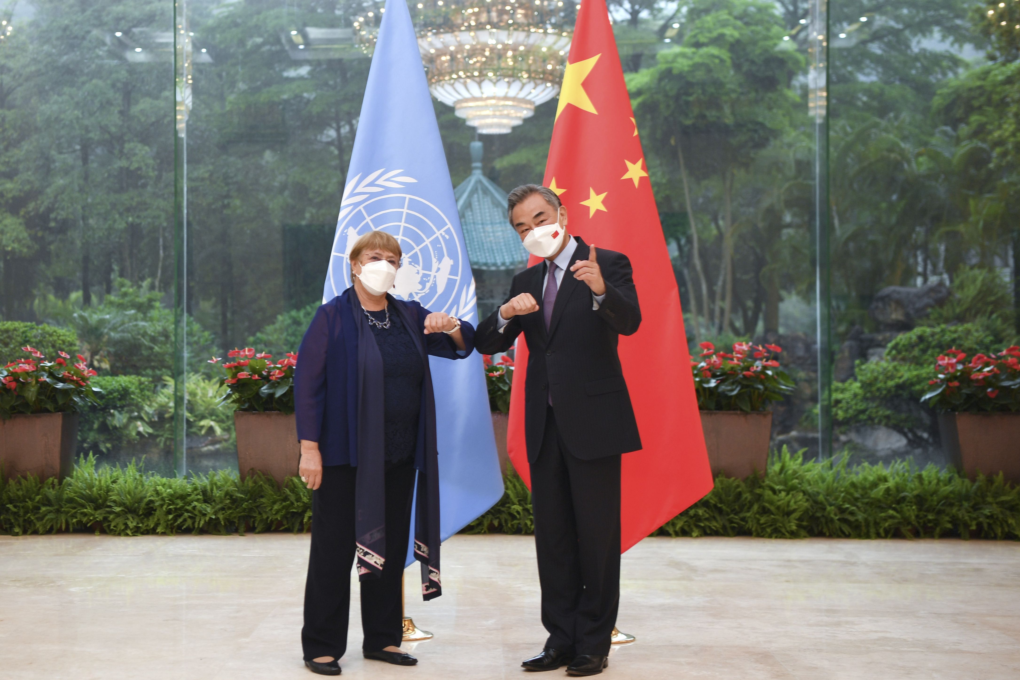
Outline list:
[[[354,41],[359,9],[177,3],[188,470],[236,466],[222,369],[209,360],[297,352],[321,302],[369,64]]]

